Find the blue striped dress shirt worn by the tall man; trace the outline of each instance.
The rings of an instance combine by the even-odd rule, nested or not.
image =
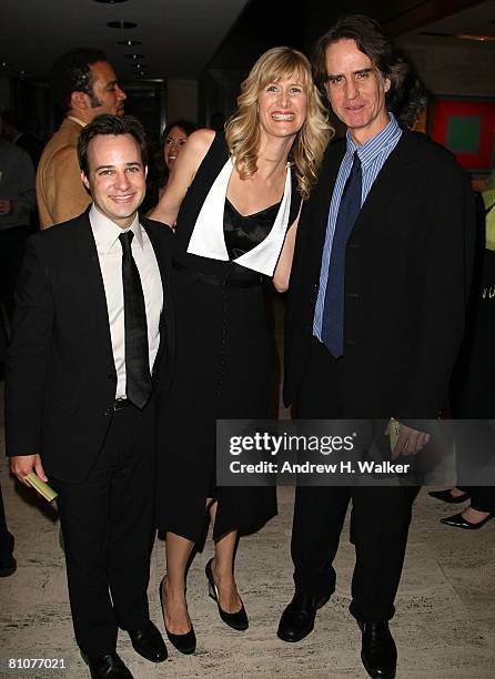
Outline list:
[[[373,186],[373,182],[378,175],[378,172],[382,170],[386,159],[395,149],[398,140],[401,139],[402,130],[398,126],[397,121],[395,120],[392,113],[388,113],[388,115],[391,122],[387,124],[387,126],[382,130],[382,132],[373,136],[373,139],[370,139],[362,146],[357,146],[353,142],[348,131],[346,134],[347,148],[345,151],[345,155],[342,159],[341,168],[339,170],[337,179],[333,190],[332,202],[330,203],[329,223],[326,226],[325,244],[323,246],[322,256],[322,268],[320,272],[320,290],[316,298],[316,306],[314,310],[313,335],[317,337],[320,342],[322,341],[323,310],[325,306],[325,291],[326,282],[329,278],[330,255],[332,253],[335,223],[337,220],[339,206],[341,204],[344,185],[351,172],[353,154],[354,151],[356,151],[361,160],[361,168],[363,174],[361,205],[363,205],[367,194],[370,193],[371,188]]]

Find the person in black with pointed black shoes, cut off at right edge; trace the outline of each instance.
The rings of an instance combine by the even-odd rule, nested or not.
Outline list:
[[[466,530],[495,518],[495,171],[478,197],[474,285],[451,388],[452,413],[463,419],[456,427],[459,485],[430,493],[453,505],[469,500],[462,511],[441,519]]]

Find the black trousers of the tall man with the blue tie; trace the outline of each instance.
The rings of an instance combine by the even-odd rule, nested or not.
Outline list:
[[[340,361],[313,338],[299,395],[300,418],[346,416],[339,405]],[[392,618],[415,494],[415,488],[401,486],[297,487],[291,544],[295,588],[319,597],[335,590],[332,564],[352,501],[356,564],[351,614],[361,620]]]

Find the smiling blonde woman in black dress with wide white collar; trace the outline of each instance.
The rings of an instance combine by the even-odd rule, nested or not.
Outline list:
[[[264,283],[287,286],[301,201],[333,133],[307,59],[290,48],[257,60],[238,105],[225,134],[199,130],[189,138],[152,215],[176,221],[176,357],[160,417],[156,515],[166,530],[165,630],[182,652],[195,648],[185,572],[208,509],[215,546],[205,569],[210,596],[226,625],[249,625],[234,579],[238,536],[276,514],[276,494],[216,486],[215,422],[271,415]]]

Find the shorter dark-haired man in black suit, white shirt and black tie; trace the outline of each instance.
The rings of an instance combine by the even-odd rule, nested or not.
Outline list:
[[[131,677],[118,628],[154,662],[149,618],[155,406],[173,362],[172,232],[138,215],[147,148],[131,116],[80,134],[93,204],[28,241],[7,363],[7,453],[59,494],[77,642],[92,677]]]

